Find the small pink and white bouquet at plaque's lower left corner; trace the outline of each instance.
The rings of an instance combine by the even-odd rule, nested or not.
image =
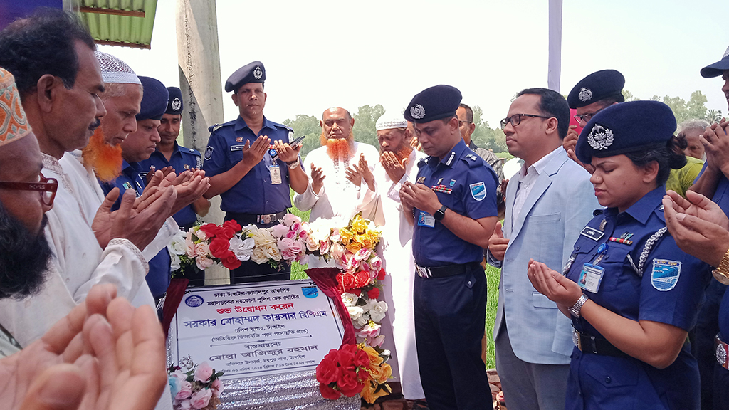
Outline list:
[[[179,366],[168,368],[168,382],[172,393],[174,410],[215,410],[220,403],[220,393],[225,388],[219,377],[222,371],[215,372],[207,362],[195,365],[190,356],[184,357],[183,372]]]

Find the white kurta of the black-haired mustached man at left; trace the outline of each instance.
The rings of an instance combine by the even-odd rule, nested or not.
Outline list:
[[[45,234],[55,255],[47,282],[38,295],[22,301],[0,301],[0,323],[21,346],[39,339],[69,314],[93,285],[112,283],[117,286],[117,295],[129,299],[134,306],[148,304],[155,308],[155,299],[144,279],[149,266],[142,252],[127,239],[112,239],[104,250],[96,240],[91,223],[104,196],[98,182],[90,177],[93,172],[69,152],[62,161],[63,165],[43,155],[44,177],[58,179],[53,208],[46,212]],[[176,224],[165,223],[145,254],[156,255],[176,231]],[[156,409],[171,409],[171,406],[170,393],[165,387]]]

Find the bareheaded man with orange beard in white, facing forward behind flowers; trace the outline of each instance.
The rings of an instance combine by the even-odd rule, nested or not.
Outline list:
[[[309,222],[319,218],[338,218],[346,221],[362,210],[362,187],[373,184],[364,180],[372,175],[377,161],[377,149],[369,144],[354,142],[354,119],[346,109],[334,107],[324,111],[319,121],[321,147],[309,152],[304,160],[304,171],[311,172],[308,187],[294,196],[294,205],[301,211],[311,209]],[[368,217],[367,214],[362,216]],[[335,262],[309,258],[309,268],[336,267]]]

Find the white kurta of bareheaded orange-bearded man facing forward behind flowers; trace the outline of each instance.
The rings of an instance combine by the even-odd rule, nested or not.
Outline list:
[[[331,219],[341,217],[348,219],[362,209],[362,198],[364,189],[367,189],[367,183],[361,182],[357,187],[349,182],[346,178],[345,169],[359,161],[359,155],[364,154],[370,171],[373,170],[375,163],[378,161],[378,152],[375,147],[370,144],[354,143],[354,155],[351,158],[343,160],[338,158],[332,160],[327,154],[327,147],[319,147],[309,152],[304,160],[304,171],[311,175],[311,165],[321,168],[324,174],[324,185],[319,193],[314,193],[311,189],[311,177],[309,177],[309,185],[306,192],[296,194],[294,196],[294,205],[301,211],[311,209],[309,221],[313,222],[319,218]],[[364,215],[365,217],[367,215]],[[335,267],[334,261],[329,263],[324,259],[309,258],[309,268],[322,268],[325,266]]]

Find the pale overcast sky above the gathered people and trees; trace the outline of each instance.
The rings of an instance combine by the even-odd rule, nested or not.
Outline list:
[[[139,75],[179,85],[176,0],[158,0],[151,50],[101,46]],[[600,69],[625,75],[634,96],[694,90],[727,114],[718,78],[699,70],[729,45],[725,1],[564,0],[561,90]],[[264,113],[283,122],[364,104],[402,111],[436,84],[453,85],[491,127],[512,96],[547,86],[547,0],[217,0],[221,79],[260,60]],[[237,108],[223,96],[225,120]]]

